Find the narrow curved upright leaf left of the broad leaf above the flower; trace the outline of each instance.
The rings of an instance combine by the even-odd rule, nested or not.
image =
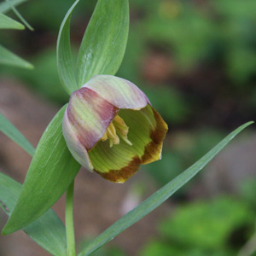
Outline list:
[[[57,40],[57,67],[61,84],[67,93],[71,95],[74,90],[78,90],[78,84],[75,78],[73,56],[70,46],[70,20],[73,9],[79,3],[77,0],[67,11],[67,15],[61,23],[61,28]]]

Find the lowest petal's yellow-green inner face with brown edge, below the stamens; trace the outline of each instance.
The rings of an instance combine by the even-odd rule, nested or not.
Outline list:
[[[122,140],[112,148],[108,141],[100,141],[90,150],[89,156],[94,171],[114,183],[124,183],[141,164],[133,148]]]

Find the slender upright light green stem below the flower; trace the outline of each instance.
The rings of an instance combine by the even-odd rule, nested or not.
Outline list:
[[[66,236],[67,236],[67,256],[76,255],[74,228],[73,228],[73,185],[69,185],[66,194]]]

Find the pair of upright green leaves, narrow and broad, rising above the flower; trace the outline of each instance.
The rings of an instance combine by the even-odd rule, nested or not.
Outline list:
[[[128,0],[98,0],[84,33],[75,73],[70,46],[70,21],[77,0],[61,23],[57,67],[61,83],[71,95],[96,74],[114,75],[123,60],[129,30]]]

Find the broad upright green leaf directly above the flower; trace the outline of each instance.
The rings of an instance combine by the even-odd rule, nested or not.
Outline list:
[[[77,89],[97,74],[117,73],[128,32],[128,0],[98,0],[79,49]]]

